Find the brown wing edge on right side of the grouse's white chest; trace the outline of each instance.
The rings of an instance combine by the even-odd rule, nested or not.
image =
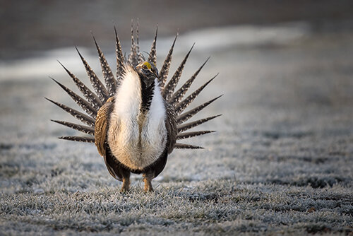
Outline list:
[[[177,114],[174,112],[174,107],[169,105],[167,102],[165,104],[167,109],[167,120],[165,122],[165,127],[167,128],[167,150],[168,154],[172,153],[175,142],[177,141]]]

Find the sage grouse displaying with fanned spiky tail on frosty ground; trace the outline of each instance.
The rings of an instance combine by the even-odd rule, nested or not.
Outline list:
[[[177,141],[213,132],[185,131],[219,115],[198,119],[194,122],[186,123],[186,121],[220,97],[213,98],[192,110],[184,112],[201,90],[215,78],[211,78],[210,81],[207,81],[187,98],[184,98],[186,91],[190,88],[191,83],[193,83],[208,59],[184,85],[174,91],[184,69],[186,59],[188,59],[193,47],[191,47],[183,61],[181,61],[177,71],[167,83],[169,66],[177,36],[169,49],[162,68],[158,72],[156,68],[157,30],[147,60],[140,53],[138,29],[136,42],[131,29],[131,52],[128,57],[125,57],[122,53],[116,29],[114,30],[116,39],[116,77],[112,73],[112,69],[110,69],[102,50],[97,45],[95,37],[93,37],[105,84],[92,71],[88,62],[78,52],[77,48],[78,55],[85,66],[95,92],[90,90],[62,64],[61,66],[64,67],[85,98],[80,97],[80,95],[77,95],[65,85],[54,80],[87,114],[83,114],[59,102],[46,99],[86,125],[59,120],[52,120],[53,122],[89,135],[63,136],[59,138],[95,143],[98,152],[104,158],[110,175],[123,182],[121,191],[128,191],[131,172],[143,174],[145,191],[153,191],[151,181],[162,172],[167,162],[167,155],[172,153],[174,148],[201,148],[200,146]]]

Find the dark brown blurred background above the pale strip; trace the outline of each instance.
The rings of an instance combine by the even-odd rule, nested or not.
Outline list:
[[[129,39],[131,19],[140,19],[140,35],[150,39],[225,25],[306,22],[311,30],[352,29],[352,1],[0,1],[0,59],[31,57],[48,49],[92,47],[90,31],[111,44],[113,27]]]

